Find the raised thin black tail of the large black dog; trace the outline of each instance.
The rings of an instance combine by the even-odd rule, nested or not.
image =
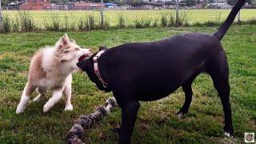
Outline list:
[[[218,31],[214,33],[214,36],[218,38],[218,40],[222,40],[227,30],[229,30],[230,26],[234,22],[234,18],[238,14],[238,11],[242,8],[243,4],[246,0],[238,0],[233,9],[231,10],[229,16],[226,18],[226,21],[222,24],[221,27],[218,28]]]

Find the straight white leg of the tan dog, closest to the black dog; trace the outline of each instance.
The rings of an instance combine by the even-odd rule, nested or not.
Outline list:
[[[66,86],[64,88],[64,94],[66,96],[66,106],[65,110],[73,110],[73,106],[71,104],[71,83],[72,83],[72,76],[70,75],[67,78]]]

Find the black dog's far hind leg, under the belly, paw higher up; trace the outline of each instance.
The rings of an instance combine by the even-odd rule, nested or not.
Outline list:
[[[182,117],[183,114],[186,114],[188,110],[190,109],[190,103],[192,101],[192,82],[194,81],[194,78],[196,78],[198,74],[195,74],[192,76],[185,84],[182,85],[182,90],[185,93],[185,102],[182,106],[182,108],[178,111],[178,117]]]

